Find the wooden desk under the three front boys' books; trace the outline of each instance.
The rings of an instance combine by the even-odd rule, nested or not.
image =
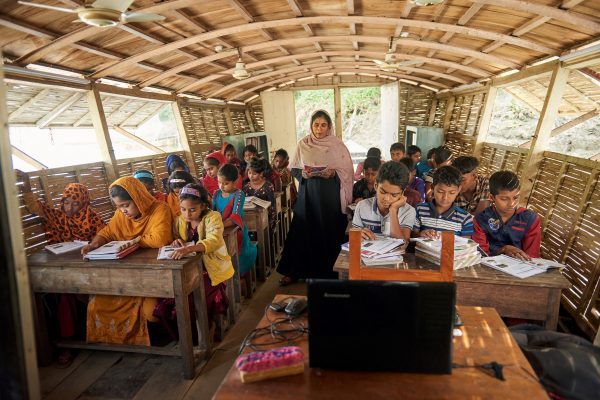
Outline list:
[[[414,254],[405,254],[411,268],[437,269],[437,265]],[[333,266],[340,279],[348,279],[348,253],[342,251]],[[465,306],[493,307],[503,317],[544,322],[556,330],[561,290],[570,286],[558,270],[526,279],[476,265],[454,271],[456,303]]]

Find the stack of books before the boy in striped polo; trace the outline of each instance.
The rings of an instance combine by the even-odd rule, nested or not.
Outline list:
[[[413,238],[417,242],[415,255],[424,258],[436,265],[440,265],[442,253],[441,239]],[[477,243],[471,239],[460,236],[454,237],[454,269],[466,268],[481,262],[481,254],[477,250]]]

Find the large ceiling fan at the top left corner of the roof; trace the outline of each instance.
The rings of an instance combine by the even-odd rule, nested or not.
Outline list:
[[[149,22],[165,19],[164,16],[151,13],[140,13],[135,11],[127,12],[127,8],[134,0],[96,0],[86,2],[84,6],[77,8],[65,8],[50,6],[47,4],[33,3],[30,1],[21,1],[19,4],[29,7],[45,8],[48,10],[61,11],[77,14],[79,19],[93,26],[110,27],[128,22]]]

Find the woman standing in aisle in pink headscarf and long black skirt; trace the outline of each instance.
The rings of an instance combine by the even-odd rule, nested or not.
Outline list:
[[[346,208],[352,201],[354,168],[350,152],[333,134],[331,117],[316,111],[310,119],[310,135],[298,142],[290,164],[298,179],[294,218],[277,271],[280,283],[300,278],[334,278],[333,264],[344,241]],[[310,168],[326,166],[320,172]]]

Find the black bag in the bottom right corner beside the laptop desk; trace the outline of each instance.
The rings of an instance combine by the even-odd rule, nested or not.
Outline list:
[[[537,325],[515,325],[510,331],[552,397],[600,398],[600,347]]]

